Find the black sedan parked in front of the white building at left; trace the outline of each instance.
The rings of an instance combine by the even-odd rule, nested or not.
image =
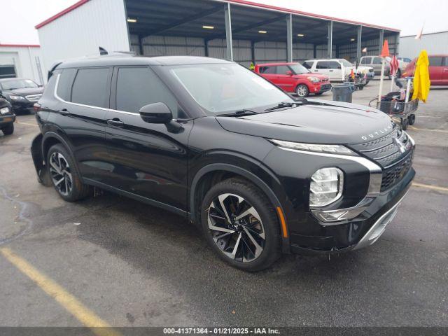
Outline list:
[[[31,112],[33,104],[41,98],[43,87],[27,78],[1,78],[0,97],[13,105],[13,111]]]

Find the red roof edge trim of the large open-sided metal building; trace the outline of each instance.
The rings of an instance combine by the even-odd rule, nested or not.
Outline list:
[[[39,23],[38,25],[35,26],[36,29],[40,29],[41,27],[48,25],[50,22],[53,22],[55,20],[57,20],[58,18],[62,17],[63,15],[66,15],[66,13],[70,13],[72,10],[75,10],[76,8],[83,6],[83,4],[87,3],[90,0],[80,0],[76,3],[74,3],[72,6],[70,6],[69,8],[66,8],[64,10],[62,10],[61,12],[52,15],[52,17],[48,18],[47,20]],[[290,13],[290,14],[294,14],[294,15],[301,15],[301,16],[305,16],[305,17],[309,17],[309,18],[314,18],[314,19],[321,19],[321,20],[331,20],[331,21],[335,21],[335,22],[342,22],[342,23],[346,23],[346,24],[350,24],[350,25],[362,25],[363,27],[370,27],[370,28],[376,28],[376,29],[385,29],[388,31],[400,31],[400,29],[395,29],[395,28],[389,28],[389,27],[383,27],[383,26],[379,26],[379,25],[371,25],[369,23],[364,23],[364,22],[357,22],[357,21],[353,21],[353,20],[345,20],[345,19],[339,19],[339,18],[332,18],[330,16],[326,16],[326,15],[319,15],[319,14],[313,14],[313,13],[307,13],[307,12],[302,12],[300,10],[293,10],[293,9],[288,9],[288,8],[282,8],[282,7],[278,7],[278,6],[270,6],[270,5],[266,5],[266,4],[262,4],[262,3],[255,3],[252,1],[246,1],[246,0],[213,0],[214,2],[228,2],[228,3],[234,3],[237,5],[241,5],[241,6],[251,6],[251,7],[255,7],[255,8],[259,8],[259,9],[265,9],[265,10],[270,10],[270,11],[274,11],[274,12],[281,12],[281,13]]]

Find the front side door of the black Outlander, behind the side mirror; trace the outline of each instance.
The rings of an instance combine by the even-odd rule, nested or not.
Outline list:
[[[181,128],[146,123],[141,107],[165,103]],[[148,66],[118,66],[113,71],[106,141],[113,169],[108,184],[186,211],[188,120],[176,98]],[[158,204],[161,205],[161,204]],[[175,210],[175,209],[174,209]]]

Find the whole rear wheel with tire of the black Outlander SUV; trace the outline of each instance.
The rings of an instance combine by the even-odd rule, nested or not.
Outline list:
[[[48,175],[60,197],[75,202],[89,195],[89,186],[82,182],[71,153],[62,144],[51,146],[46,162]]]

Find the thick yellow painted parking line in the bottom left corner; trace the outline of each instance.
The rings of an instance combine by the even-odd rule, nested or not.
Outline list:
[[[69,292],[64,290],[55,281],[45,276],[39,272],[36,268],[30,265],[26,260],[20,258],[18,255],[13,253],[10,248],[0,248],[0,253],[9,260],[15,267],[17,267],[20,272],[29,277],[32,281],[36,283],[45,293],[50,295],[59,304],[62,305],[69,311],[70,314],[75,316],[80,323],[92,328],[92,332],[98,336],[118,336],[120,333],[113,330],[109,324],[103,321],[99,316],[94,314],[93,311],[85,307],[81,302],[79,302],[76,297],[71,295]]]

